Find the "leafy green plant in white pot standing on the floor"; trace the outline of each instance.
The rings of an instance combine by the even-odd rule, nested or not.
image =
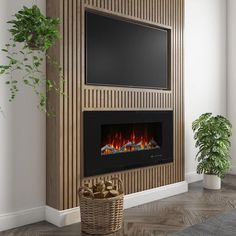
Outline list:
[[[232,125],[223,116],[212,113],[202,114],[192,123],[198,161],[197,173],[204,174],[203,186],[220,189],[221,178],[230,169],[229,148]]]

